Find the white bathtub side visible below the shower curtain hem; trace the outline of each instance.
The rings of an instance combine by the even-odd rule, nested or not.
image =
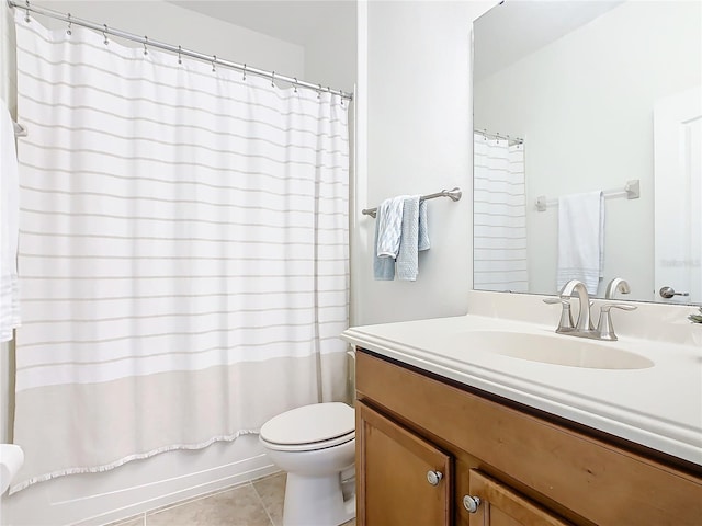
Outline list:
[[[244,438],[244,439],[242,439]],[[279,471],[258,437],[41,482],[0,502],[3,526],[102,526]]]

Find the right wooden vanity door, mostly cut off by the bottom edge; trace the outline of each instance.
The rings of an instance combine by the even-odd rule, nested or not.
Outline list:
[[[471,526],[567,526],[570,523],[558,518],[514,490],[482,473],[471,470],[471,495],[480,499]],[[468,513],[464,507],[462,512]]]

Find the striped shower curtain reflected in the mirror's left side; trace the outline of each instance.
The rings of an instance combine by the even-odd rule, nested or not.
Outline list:
[[[524,144],[473,137],[476,290],[529,290]]]

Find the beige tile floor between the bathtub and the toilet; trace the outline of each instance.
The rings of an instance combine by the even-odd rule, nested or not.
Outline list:
[[[284,495],[281,472],[110,526],[282,526]],[[355,526],[355,519],[343,526]]]

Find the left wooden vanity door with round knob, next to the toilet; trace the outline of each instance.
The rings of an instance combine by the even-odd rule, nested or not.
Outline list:
[[[449,455],[361,402],[355,438],[359,526],[450,526]]]

